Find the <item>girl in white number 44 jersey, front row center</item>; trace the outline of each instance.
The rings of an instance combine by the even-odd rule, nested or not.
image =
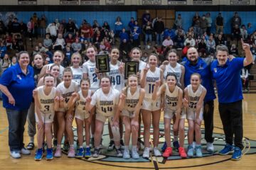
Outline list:
[[[120,148],[120,134],[119,134],[119,91],[111,87],[110,77],[102,77],[100,80],[101,88],[95,91],[92,97],[87,97],[86,110],[91,111],[96,106],[96,121],[95,121],[95,151],[92,157],[99,157],[100,154],[100,139],[102,137],[102,130],[104,123],[108,119],[113,133],[113,140],[117,157],[122,157]]]

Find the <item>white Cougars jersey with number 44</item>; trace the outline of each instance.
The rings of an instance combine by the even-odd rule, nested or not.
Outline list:
[[[97,89],[92,95],[91,105],[96,106],[96,113],[105,116],[114,115],[114,106],[119,103],[119,91],[110,88],[109,94],[104,94],[102,89]]]

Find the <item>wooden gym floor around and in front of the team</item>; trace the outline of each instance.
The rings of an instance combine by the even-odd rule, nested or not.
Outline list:
[[[220,156],[220,150],[225,142],[223,140],[223,129],[218,114],[218,102],[215,100],[214,113],[214,137],[215,137],[215,152],[208,153],[205,150],[205,140],[203,144],[203,158],[180,159],[178,153],[174,152],[174,156],[168,160],[162,157],[151,157],[149,160],[138,159],[134,162],[133,159],[119,159],[114,157],[114,152],[107,152],[102,149],[102,155],[99,159],[68,159],[66,153],[60,159],[54,158],[52,161],[46,161],[45,157],[41,162],[34,161],[34,149],[30,156],[23,156],[21,159],[13,159],[9,154],[8,146],[8,121],[6,112],[0,102],[0,169],[256,169],[256,94],[244,94],[243,107],[243,127],[244,140],[246,146],[243,149],[245,155],[238,162],[230,160],[231,155]],[[163,116],[161,116],[163,117]],[[74,124],[75,125],[75,124]],[[107,129],[107,126],[105,126]],[[163,134],[163,123],[161,123],[161,134]],[[75,130],[75,129],[74,129]],[[203,130],[203,129],[202,129]],[[106,131],[106,130],[105,130]],[[103,145],[107,147],[109,137],[104,132]],[[24,142],[28,144],[27,130],[24,132]],[[164,141],[164,136],[160,137],[160,142]],[[161,147],[159,145],[159,148]],[[140,152],[142,154],[142,151]]]

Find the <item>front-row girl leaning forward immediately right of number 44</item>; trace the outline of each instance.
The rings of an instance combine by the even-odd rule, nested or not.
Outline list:
[[[122,89],[119,101],[119,111],[122,111],[124,122],[124,159],[129,159],[129,140],[132,132],[132,158],[139,159],[137,152],[137,138],[139,129],[139,111],[142,107],[145,91],[138,86],[137,75],[130,75],[128,86]]]

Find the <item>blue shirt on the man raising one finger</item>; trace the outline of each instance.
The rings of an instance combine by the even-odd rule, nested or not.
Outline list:
[[[244,58],[234,58],[227,61],[225,65],[218,65],[214,61],[210,66],[213,79],[216,80],[219,103],[233,103],[242,100],[242,83],[240,72]]]

